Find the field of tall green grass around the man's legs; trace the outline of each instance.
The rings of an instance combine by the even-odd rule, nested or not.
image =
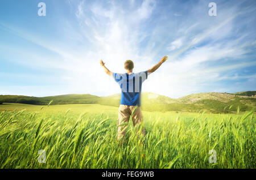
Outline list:
[[[115,106],[4,103],[0,168],[256,168],[253,112],[143,115],[146,140],[130,122],[118,145]],[[40,149],[46,163],[38,162]]]

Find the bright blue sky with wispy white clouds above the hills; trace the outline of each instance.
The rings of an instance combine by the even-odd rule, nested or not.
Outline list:
[[[38,3],[46,16],[38,16]],[[209,2],[217,16],[209,16]],[[256,90],[256,4],[251,1],[0,1],[0,94],[119,93],[104,74],[146,71],[168,55],[144,92],[177,98]]]

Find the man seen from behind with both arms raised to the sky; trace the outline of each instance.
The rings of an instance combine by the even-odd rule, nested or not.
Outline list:
[[[141,112],[141,87],[147,76],[157,70],[162,63],[168,59],[164,56],[159,63],[150,68],[147,71],[133,73],[134,64],[133,61],[127,60],[125,62],[126,73],[118,74],[109,71],[106,68],[105,63],[101,60],[100,64],[104,68],[106,74],[112,76],[115,81],[120,85],[121,88],[121,101],[118,109],[118,140],[125,136],[126,129],[128,127],[128,122],[131,116],[133,120],[133,126],[139,125],[143,121],[143,116]],[[120,126],[119,126],[120,125]],[[142,134],[145,134],[144,127],[142,127]],[[122,143],[121,142],[121,143]]]

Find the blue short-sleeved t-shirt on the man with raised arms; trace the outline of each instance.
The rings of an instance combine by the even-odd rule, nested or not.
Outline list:
[[[147,79],[147,71],[131,74],[113,73],[113,78],[122,90],[120,104],[141,106],[141,88],[142,83]]]

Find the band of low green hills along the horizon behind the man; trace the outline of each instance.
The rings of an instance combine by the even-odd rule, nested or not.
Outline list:
[[[196,93],[180,98],[170,98],[156,93],[142,93],[142,109],[147,111],[175,111],[175,112],[199,112],[205,110],[211,113],[236,112],[238,107],[241,112],[255,109],[256,91],[246,91],[237,93]],[[48,97],[0,95],[2,102],[14,102],[22,104],[47,105],[51,100],[51,105],[57,104],[101,104],[109,106],[119,106],[121,94],[111,96],[94,95],[60,95]],[[232,108],[229,109],[229,107]]]

